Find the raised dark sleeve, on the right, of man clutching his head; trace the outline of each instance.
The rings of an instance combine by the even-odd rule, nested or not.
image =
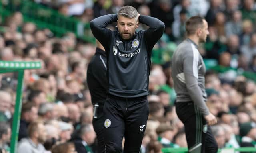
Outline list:
[[[151,51],[164,33],[164,22],[157,18],[144,15],[139,16],[139,22],[149,26],[149,28],[145,31],[144,37],[146,40],[147,49]]]

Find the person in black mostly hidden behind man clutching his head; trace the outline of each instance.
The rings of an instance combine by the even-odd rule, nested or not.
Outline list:
[[[92,125],[97,134],[98,153],[105,153],[104,142],[104,116],[103,106],[107,97],[107,67],[106,67],[106,53],[104,47],[96,41],[96,53],[92,57],[87,69],[87,84],[94,105],[94,118]]]

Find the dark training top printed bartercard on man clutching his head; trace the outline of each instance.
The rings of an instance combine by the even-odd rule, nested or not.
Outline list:
[[[107,56],[108,93],[124,98],[148,95],[151,52],[164,33],[164,23],[150,16],[139,16],[139,22],[149,26],[129,40],[117,30],[106,28],[117,21],[117,14],[100,16],[90,22],[92,33],[104,46]]]

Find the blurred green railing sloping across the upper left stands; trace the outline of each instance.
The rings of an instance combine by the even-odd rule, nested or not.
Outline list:
[[[0,0],[0,3],[1,16],[20,11],[25,22],[34,22],[39,28],[48,28],[58,37],[67,32],[73,32],[78,38],[95,43],[88,23],[64,16],[54,9],[30,0],[9,0],[8,4],[4,4]]]

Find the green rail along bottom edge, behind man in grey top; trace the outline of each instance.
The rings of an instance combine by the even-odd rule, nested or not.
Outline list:
[[[240,147],[240,148],[224,148],[224,149],[219,149],[218,153],[224,151],[229,151],[229,153],[234,153],[236,151],[239,152],[256,152],[255,147]],[[163,153],[188,153],[188,148],[162,148]]]

